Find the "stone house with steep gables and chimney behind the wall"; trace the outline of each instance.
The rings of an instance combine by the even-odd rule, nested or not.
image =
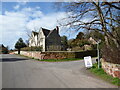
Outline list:
[[[53,30],[41,28],[39,32],[32,31],[29,47],[40,46],[43,51],[61,51],[61,37],[58,26]]]

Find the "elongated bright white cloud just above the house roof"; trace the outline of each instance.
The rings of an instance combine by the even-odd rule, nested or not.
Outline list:
[[[34,28],[48,28],[53,29],[58,25],[58,20],[62,19],[66,16],[65,12],[58,12],[58,13],[52,13],[48,15],[43,15],[41,18],[36,18],[28,22],[27,28],[28,29],[34,29]]]

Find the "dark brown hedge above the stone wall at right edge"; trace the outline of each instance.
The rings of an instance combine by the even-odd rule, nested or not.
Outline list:
[[[116,33],[114,33],[116,32]],[[113,31],[116,40],[120,43],[120,30],[119,27],[115,28],[115,31]],[[114,41],[110,38],[108,39],[109,46],[107,46],[105,43],[102,43],[101,45],[101,54],[102,57],[105,59],[105,61],[114,63],[114,64],[120,64],[120,48],[117,48]]]

